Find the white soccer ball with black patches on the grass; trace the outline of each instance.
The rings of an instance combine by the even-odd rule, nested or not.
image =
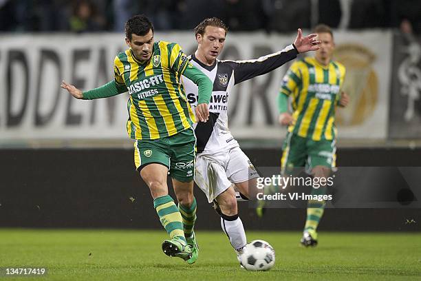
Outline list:
[[[254,240],[243,248],[241,265],[251,271],[269,270],[274,265],[274,249],[263,240]]]

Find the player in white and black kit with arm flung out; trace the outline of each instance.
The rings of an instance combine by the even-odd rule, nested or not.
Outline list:
[[[195,183],[204,191],[209,202],[215,202],[221,216],[221,226],[231,245],[241,253],[246,245],[246,233],[238,216],[235,189],[248,198],[249,186],[256,186],[259,177],[252,163],[241,151],[228,129],[228,97],[234,85],[266,74],[295,59],[301,52],[319,49],[319,41],[310,34],[303,37],[301,29],[293,44],[274,54],[249,61],[219,61],[226,39],[226,25],[217,18],[205,19],[195,28],[197,50],[189,59],[213,81],[209,103],[209,120],[195,126],[197,157]],[[183,77],[188,101],[197,103],[197,85]]]

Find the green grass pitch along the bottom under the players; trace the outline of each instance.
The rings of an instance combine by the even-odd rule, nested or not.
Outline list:
[[[47,280],[421,280],[420,233],[319,236],[319,247],[305,249],[298,232],[248,232],[270,242],[277,260],[250,272],[222,231],[197,231],[199,260],[189,266],[162,253],[163,230],[0,229],[0,267],[47,267]]]

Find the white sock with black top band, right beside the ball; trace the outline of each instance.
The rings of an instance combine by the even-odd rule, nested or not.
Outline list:
[[[243,222],[238,215],[225,216],[221,218],[221,227],[224,233],[228,236],[231,245],[237,251],[246,246],[247,238],[246,231],[244,231]]]

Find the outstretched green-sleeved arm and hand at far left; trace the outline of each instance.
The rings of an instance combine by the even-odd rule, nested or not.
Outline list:
[[[78,99],[96,99],[96,98],[107,98],[109,96],[116,96],[116,94],[122,94],[127,92],[124,85],[118,84],[115,80],[109,81],[107,84],[97,87],[93,90],[82,92],[74,85],[66,83],[64,80],[60,85],[63,89],[67,90],[69,94]]]

